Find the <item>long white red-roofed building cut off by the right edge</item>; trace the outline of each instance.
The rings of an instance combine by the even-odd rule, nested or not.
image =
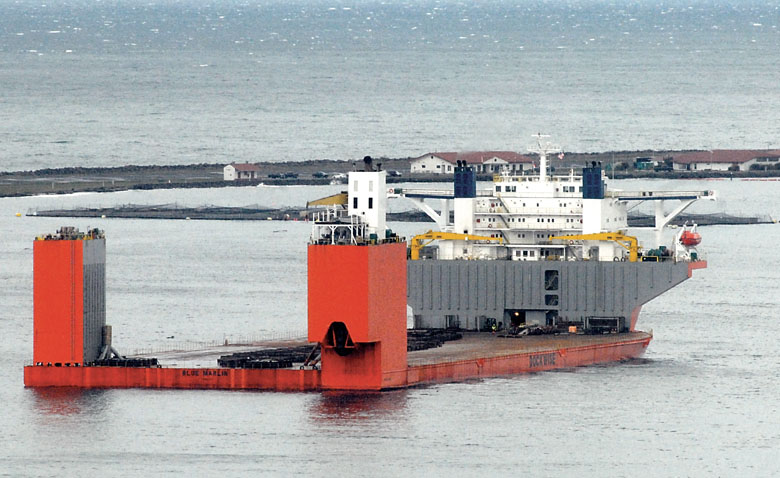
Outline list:
[[[778,150],[713,149],[680,153],[673,157],[675,171],[748,171],[754,164],[780,164]]]

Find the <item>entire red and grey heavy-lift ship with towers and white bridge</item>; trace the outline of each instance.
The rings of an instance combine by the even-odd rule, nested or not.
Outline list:
[[[315,202],[326,208],[308,246],[308,337],[295,343],[122,356],[106,325],[102,231],[36,238],[25,385],[384,390],[620,361],[652,339],[635,330],[641,305],[706,267],[695,228],[643,254],[621,230],[633,197],[608,193],[595,165],[548,178],[542,162],[540,175],[497,176],[481,193],[468,164],[455,169],[454,192],[420,193],[387,190],[367,161],[348,192]],[[441,230],[407,248],[385,223],[394,195],[442,200],[441,212],[427,208]],[[423,247],[433,240],[438,249]],[[417,331],[407,331],[407,304]],[[418,346],[428,335],[433,346]]]

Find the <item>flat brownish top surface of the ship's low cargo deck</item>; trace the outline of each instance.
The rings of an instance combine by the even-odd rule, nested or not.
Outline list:
[[[647,332],[627,332],[606,335],[535,335],[521,337],[503,337],[488,332],[463,332],[463,338],[445,342],[441,347],[416,350],[407,353],[409,367],[459,362],[480,358],[502,357],[507,355],[539,353],[564,348],[609,345],[617,342],[650,338]],[[162,367],[219,368],[217,359],[222,355],[253,350],[298,347],[314,344],[305,339],[269,340],[252,344],[224,345],[200,350],[171,350],[154,354],[140,354],[133,357],[155,357]],[[300,364],[296,364],[296,367]]]

